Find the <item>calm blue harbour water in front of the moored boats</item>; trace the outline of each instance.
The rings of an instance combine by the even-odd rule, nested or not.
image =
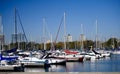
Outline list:
[[[95,61],[67,62],[66,66],[51,65],[50,68],[25,68],[25,72],[120,72],[120,55]]]

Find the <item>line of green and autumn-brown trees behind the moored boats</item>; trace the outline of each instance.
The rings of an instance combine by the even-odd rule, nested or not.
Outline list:
[[[44,46],[43,43],[35,43],[35,42],[19,42],[19,43],[10,43],[8,45],[4,45],[4,50],[9,50],[14,48],[15,46],[18,47],[18,49],[22,50],[33,50],[33,49],[43,49]],[[52,48],[51,45],[54,45],[55,49],[64,49],[64,42],[57,42],[56,44],[47,43],[46,44],[46,50],[50,50]],[[95,48],[96,47],[96,41],[93,40],[85,40],[83,41],[83,48],[89,49],[90,47]],[[81,49],[82,43],[81,41],[72,41],[72,42],[66,42],[67,49]],[[97,48],[98,49],[120,49],[120,40],[117,38],[109,38],[107,41],[97,41]]]

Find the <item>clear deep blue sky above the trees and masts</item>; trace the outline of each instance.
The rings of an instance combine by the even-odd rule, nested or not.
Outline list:
[[[43,18],[46,22],[46,38],[52,34],[55,40],[60,21],[66,13],[66,34],[79,40],[81,24],[87,39],[95,40],[96,20],[98,39],[120,38],[120,0],[0,0],[0,15],[6,42],[14,33],[14,8],[21,17],[29,41],[41,42]],[[18,32],[22,32],[17,19]],[[63,41],[62,22],[57,41]]]

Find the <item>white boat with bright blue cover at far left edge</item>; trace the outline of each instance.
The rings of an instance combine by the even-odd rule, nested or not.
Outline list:
[[[15,20],[16,20],[16,9],[15,9]],[[0,32],[3,34],[3,26],[2,26],[2,16],[0,16]],[[3,49],[3,42],[0,41],[0,48]],[[24,65],[19,64],[18,60],[13,60],[15,57],[12,56],[3,56],[2,55],[2,49],[0,49],[0,72],[5,72],[5,71],[14,71],[14,72],[20,72],[24,71]],[[14,63],[13,63],[14,62]]]

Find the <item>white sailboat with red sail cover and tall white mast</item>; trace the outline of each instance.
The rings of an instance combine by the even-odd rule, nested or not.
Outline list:
[[[64,18],[64,51],[56,52],[53,55],[53,57],[59,58],[59,59],[66,59],[67,61],[83,61],[84,57],[81,55],[78,55],[76,53],[76,51],[71,51],[71,50],[67,49],[68,52],[66,52],[66,13],[65,12],[64,12],[63,18]],[[60,24],[60,26],[61,26],[61,24]],[[59,26],[59,29],[60,29],[60,26]],[[58,32],[59,32],[59,30],[58,30]]]

